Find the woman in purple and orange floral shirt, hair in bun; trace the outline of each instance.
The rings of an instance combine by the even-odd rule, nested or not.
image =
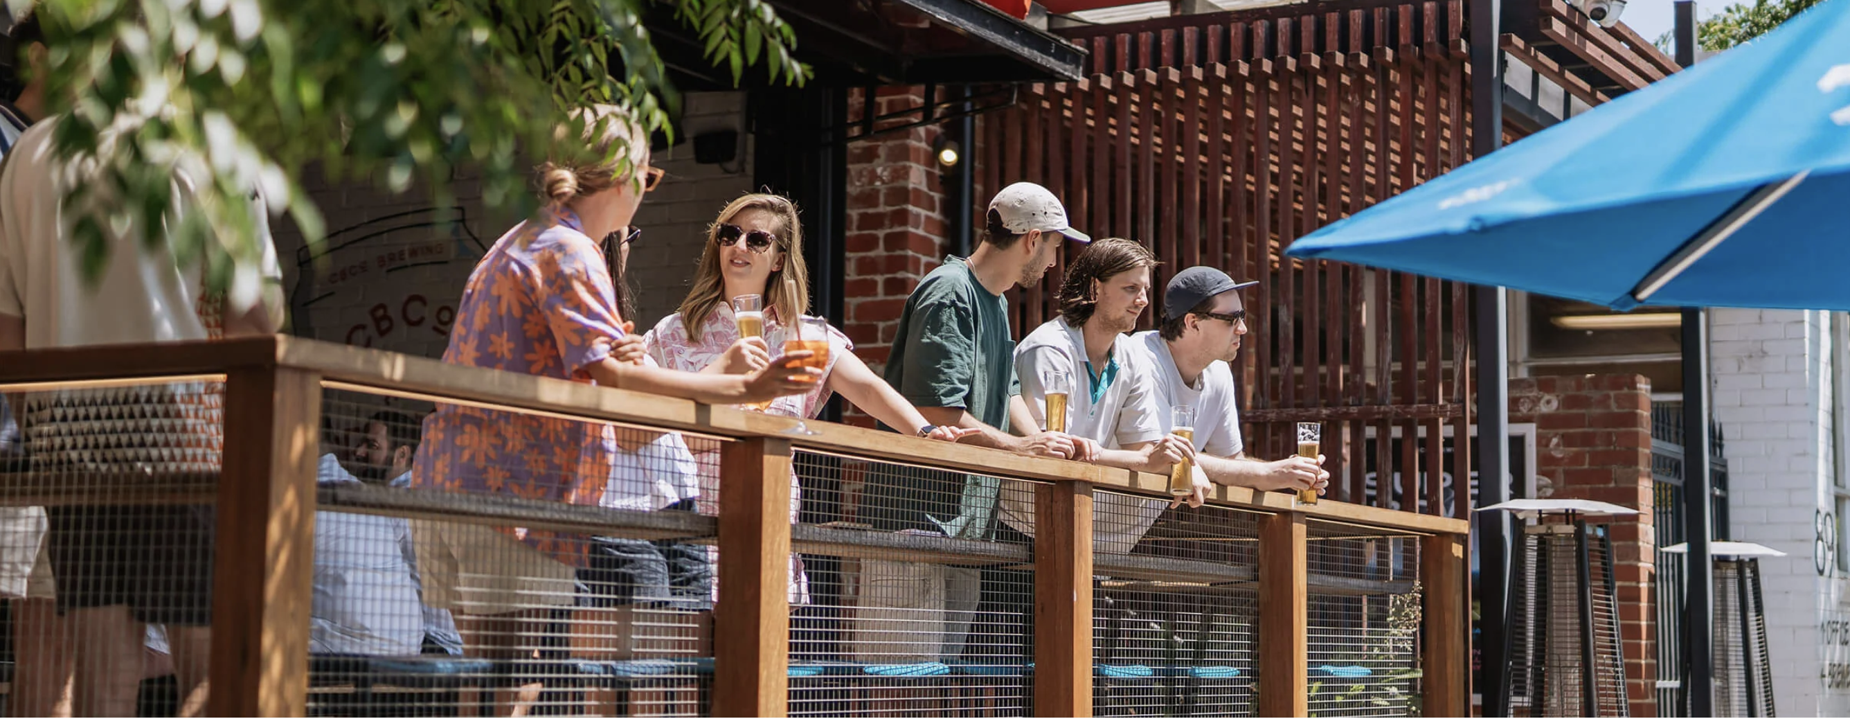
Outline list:
[[[620,109],[583,109],[572,126],[583,128],[583,146],[564,148],[575,150],[572,159],[540,165],[544,206],[496,241],[470,274],[444,361],[710,404],[810,391],[816,371],[784,361],[751,374],[642,363],[610,278],[627,245],[599,241],[623,237],[660,170],[649,167],[646,135]],[[614,263],[603,248],[612,245]],[[609,424],[444,404],[424,423],[413,486],[598,504],[612,454]],[[416,541],[426,602],[455,612],[475,656],[512,656],[522,634],[531,643],[533,632],[544,632],[535,623],[575,600],[586,547],[583,537],[461,523],[418,523]]]

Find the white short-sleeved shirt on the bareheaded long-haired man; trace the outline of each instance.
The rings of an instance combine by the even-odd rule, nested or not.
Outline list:
[[[1073,380],[1067,393],[1066,432],[1097,441],[1104,448],[1123,448],[1162,439],[1167,430],[1162,415],[1169,411],[1158,402],[1149,361],[1127,350],[1128,337],[1112,341],[1112,361],[1093,371],[1086,360],[1086,337],[1080,328],[1054,319],[1029,332],[1016,345],[1016,374],[1021,378],[1021,398],[1029,402],[1034,421],[1042,423],[1047,389],[1042,372],[1064,369]],[[1092,391],[1092,376],[1101,374],[1103,389]],[[1108,384],[1104,384],[1108,380]],[[1045,423],[1043,423],[1045,426]],[[1169,502],[1117,493],[1093,497],[1093,549],[1099,552],[1130,552],[1143,539]],[[1021,534],[1034,536],[1034,487],[1006,482],[1001,495],[1001,517]]]

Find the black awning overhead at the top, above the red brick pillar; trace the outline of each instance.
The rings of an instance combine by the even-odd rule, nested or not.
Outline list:
[[[1077,80],[1086,50],[982,0],[770,0],[821,85]],[[729,89],[723,69],[672,17],[651,22],[683,89]],[[747,83],[762,70],[747,72]],[[688,87],[692,85],[696,87]],[[707,87],[699,87],[707,85]]]

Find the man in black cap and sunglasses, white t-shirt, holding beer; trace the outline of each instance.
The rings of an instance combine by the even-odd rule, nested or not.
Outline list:
[[[1127,345],[1143,352],[1145,365],[1154,367],[1158,402],[1195,408],[1195,467],[1208,480],[1252,489],[1315,487],[1321,495],[1330,484],[1323,456],[1289,456],[1278,461],[1245,456],[1234,402],[1234,371],[1228,363],[1240,354],[1240,339],[1247,334],[1247,309],[1238,289],[1249,285],[1254,282],[1234,282],[1214,267],[1177,272],[1164,289],[1160,328],[1140,332]],[[1166,411],[1158,417],[1164,432],[1173,430]]]

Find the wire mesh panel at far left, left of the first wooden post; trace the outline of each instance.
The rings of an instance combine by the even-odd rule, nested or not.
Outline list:
[[[13,715],[205,706],[222,380],[0,387]]]

